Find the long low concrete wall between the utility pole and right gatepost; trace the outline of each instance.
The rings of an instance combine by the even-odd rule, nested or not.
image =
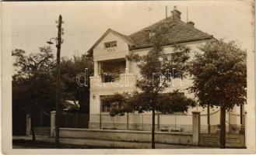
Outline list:
[[[151,142],[151,132],[110,129],[60,128],[60,137],[126,142]],[[156,132],[156,143],[192,144],[190,133]]]

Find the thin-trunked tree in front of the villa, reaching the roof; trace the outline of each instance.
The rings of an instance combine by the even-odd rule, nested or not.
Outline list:
[[[158,26],[156,29],[151,29],[154,34],[150,41],[153,45],[144,56],[131,53],[127,56],[129,61],[138,63],[140,74],[142,75],[137,80],[136,87],[139,91],[132,94],[124,93],[124,95],[114,95],[103,98],[103,103],[122,104],[119,110],[111,108],[111,114],[124,114],[124,112],[152,112],[152,148],[155,148],[155,111],[163,113],[181,112],[188,109],[188,105],[195,105],[193,100],[182,96],[178,91],[167,95],[160,95],[166,88],[171,86],[170,73],[174,71],[172,77],[185,76],[186,62],[189,59],[190,49],[184,46],[174,46],[174,52],[171,57],[167,56],[163,51],[163,45],[166,45],[165,34],[170,30],[170,24],[166,23],[163,26]],[[171,60],[170,60],[171,58]],[[174,70],[175,68],[175,70]],[[161,76],[160,76],[161,75]],[[183,76],[183,77],[182,77]],[[117,101],[116,101],[117,100]],[[182,103],[181,103],[182,102]]]

